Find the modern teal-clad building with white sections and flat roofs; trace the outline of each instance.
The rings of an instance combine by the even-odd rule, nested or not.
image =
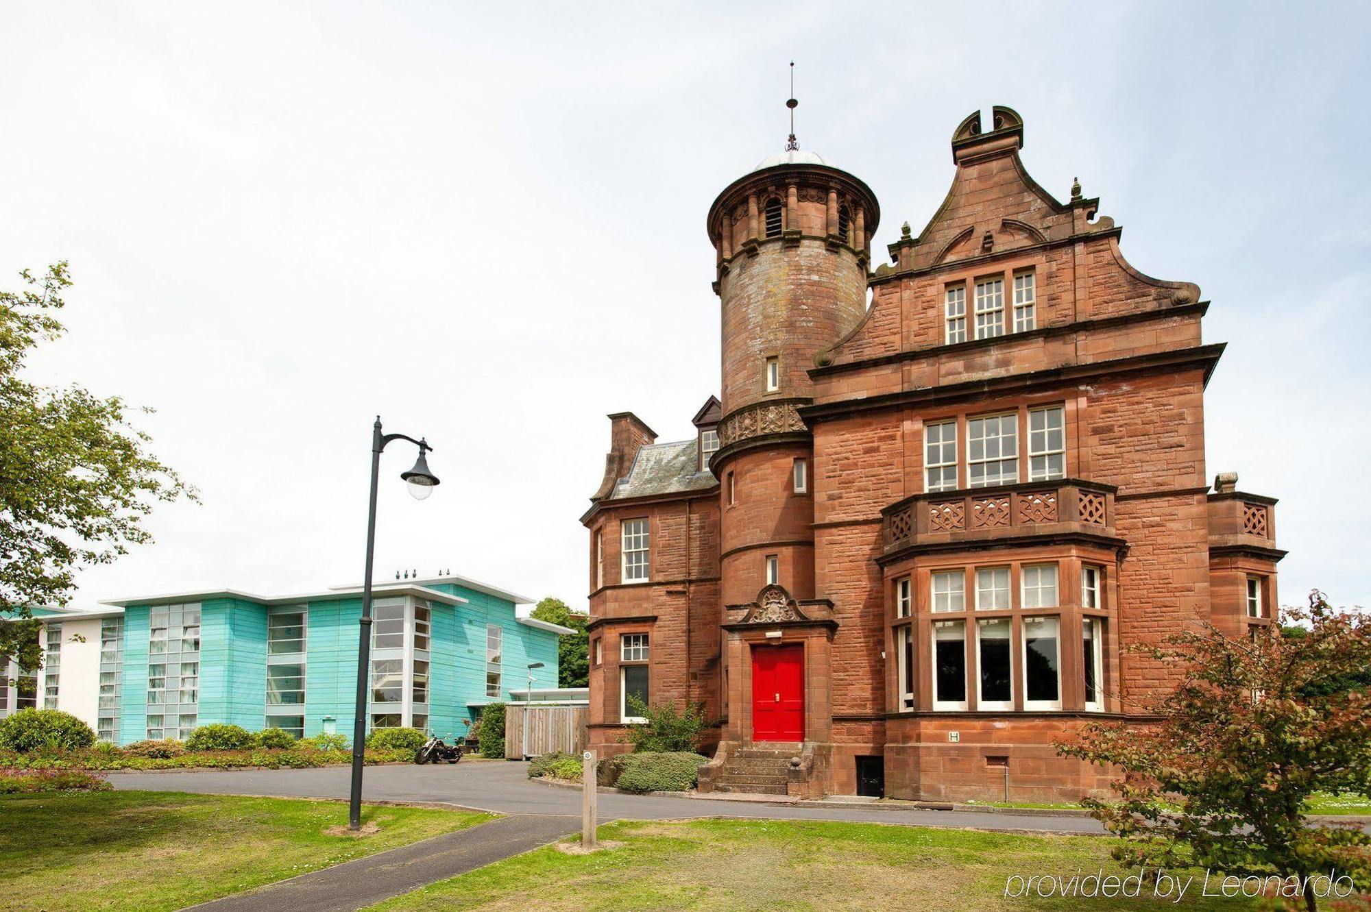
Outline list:
[[[373,589],[369,729],[461,737],[488,702],[557,687],[566,627],[520,616],[532,600],[455,575]],[[358,586],[263,597],[232,589],[44,612],[48,646],[32,702],[66,709],[101,739],[185,738],[225,722],[298,737],[352,733]],[[0,690],[0,715],[26,705]]]

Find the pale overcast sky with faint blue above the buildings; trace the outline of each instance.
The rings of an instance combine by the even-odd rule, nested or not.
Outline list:
[[[1241,11],[1241,14],[1239,14]],[[1208,475],[1281,498],[1282,603],[1371,605],[1366,7],[1209,3],[11,3],[0,282],[67,259],[33,362],[140,420],[203,505],[75,604],[451,568],[585,605],[577,518],[606,412],[661,434],[718,392],[705,214],[786,138],[917,231],[953,127],[1006,104],[1143,273],[1197,282],[1228,351]]]

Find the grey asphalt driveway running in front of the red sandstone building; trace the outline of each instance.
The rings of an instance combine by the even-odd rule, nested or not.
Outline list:
[[[255,794],[298,798],[347,798],[348,767],[321,770],[204,770],[115,772],[115,789],[196,791],[206,794]],[[579,816],[581,793],[528,779],[528,764],[515,761],[459,763],[457,765],[367,767],[363,779],[367,801],[433,801],[494,811]],[[599,819],[672,820],[684,818],[757,818],[777,820],[850,820],[909,826],[965,827],[1047,833],[1104,833],[1090,818],[1045,818],[967,811],[887,809],[835,805],[791,807],[739,801],[706,801],[670,796],[602,793]]]

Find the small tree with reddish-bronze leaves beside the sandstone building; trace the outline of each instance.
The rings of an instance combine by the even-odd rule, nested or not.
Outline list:
[[[1157,722],[1093,723],[1058,749],[1121,771],[1119,801],[1083,802],[1124,839],[1117,860],[1276,875],[1287,881],[1272,889],[1315,909],[1307,878],[1335,868],[1371,883],[1371,835],[1304,816],[1319,791],[1371,797],[1371,694],[1346,686],[1371,667],[1371,616],[1334,611],[1319,592],[1282,615],[1308,626],[1228,638],[1204,624],[1139,648],[1185,668],[1154,701]]]

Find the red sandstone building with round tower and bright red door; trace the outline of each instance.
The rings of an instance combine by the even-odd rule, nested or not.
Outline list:
[[[583,516],[594,746],[702,701],[702,790],[1075,797],[1052,741],[1175,681],[1130,644],[1270,623],[1275,500],[1206,483],[1206,301],[1021,145],[967,118],[875,271],[875,194],[814,153],[714,200],[723,400],[672,444],[610,415]]]

